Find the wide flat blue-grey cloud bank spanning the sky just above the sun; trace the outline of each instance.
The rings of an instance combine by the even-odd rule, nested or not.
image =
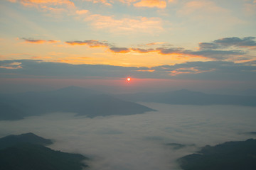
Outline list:
[[[18,63],[18,64],[13,64]],[[252,81],[256,77],[255,62],[223,61],[185,62],[156,67],[120,67],[104,64],[65,64],[41,60],[0,61],[0,77],[87,79],[86,77],[123,78],[131,75],[140,79],[203,79]],[[13,67],[17,69],[9,69]]]

